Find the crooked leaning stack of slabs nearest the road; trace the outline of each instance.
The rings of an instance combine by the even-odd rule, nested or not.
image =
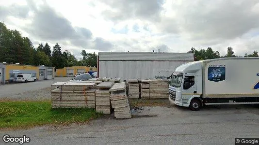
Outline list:
[[[114,108],[115,118],[131,118],[129,100],[126,94],[126,83],[115,83],[109,91],[111,92],[110,100]]]

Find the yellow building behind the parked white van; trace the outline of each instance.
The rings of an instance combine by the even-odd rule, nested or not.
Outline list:
[[[37,80],[54,78],[54,67],[0,63],[0,83],[16,81],[18,74],[32,74]]]

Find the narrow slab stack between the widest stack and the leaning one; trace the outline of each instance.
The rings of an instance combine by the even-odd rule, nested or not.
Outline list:
[[[113,87],[114,82],[102,82],[97,85],[99,89],[96,93],[96,111],[103,114],[111,114],[111,102],[110,102],[110,91]]]

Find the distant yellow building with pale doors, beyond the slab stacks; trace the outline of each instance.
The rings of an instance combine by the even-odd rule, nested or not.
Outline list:
[[[75,76],[77,73],[92,73],[97,72],[96,67],[86,67],[86,66],[72,66],[72,67],[65,67],[63,69],[56,70],[56,76],[63,77],[63,76]]]

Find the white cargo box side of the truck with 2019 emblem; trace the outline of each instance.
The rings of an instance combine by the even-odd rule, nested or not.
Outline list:
[[[204,98],[259,97],[259,89],[254,89],[259,82],[258,64],[259,58],[205,60]]]

